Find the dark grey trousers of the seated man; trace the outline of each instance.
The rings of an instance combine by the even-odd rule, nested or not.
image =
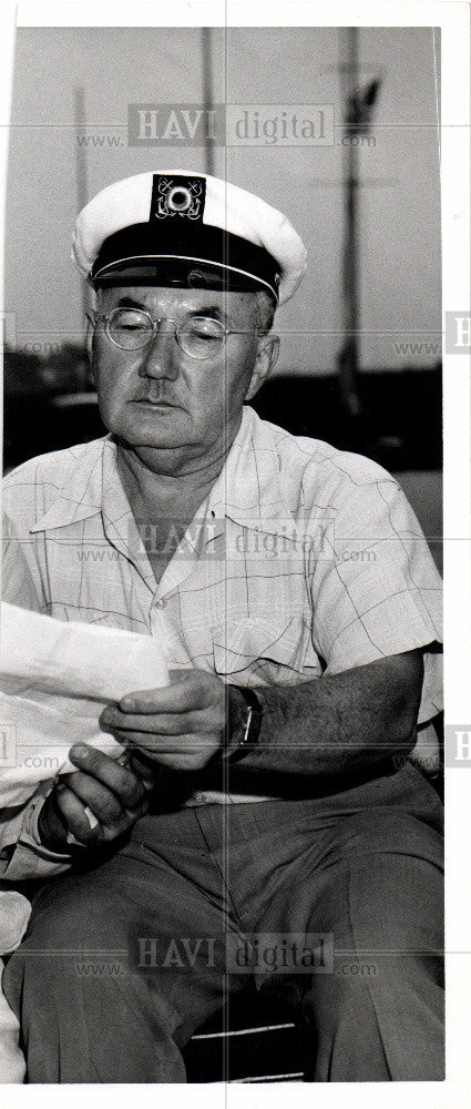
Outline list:
[[[194,1031],[253,989],[289,996],[314,1081],[440,1080],[442,916],[442,806],[410,764],[143,816],[34,898],[3,976],[27,1080],[185,1082]]]

